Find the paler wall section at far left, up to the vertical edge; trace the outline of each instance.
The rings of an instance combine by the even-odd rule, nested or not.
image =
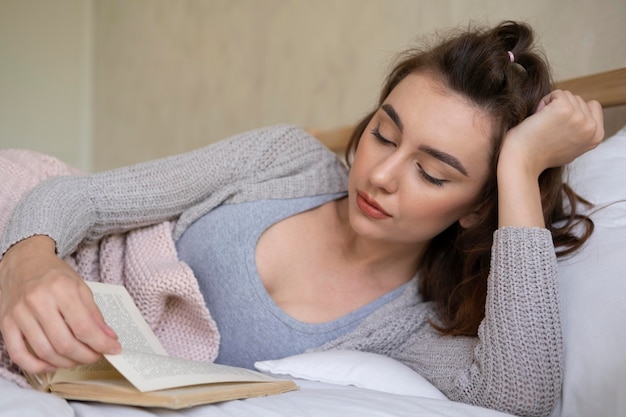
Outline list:
[[[90,0],[0,0],[0,149],[91,163]]]

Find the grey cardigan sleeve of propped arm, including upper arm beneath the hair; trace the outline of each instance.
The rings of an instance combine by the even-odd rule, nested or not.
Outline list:
[[[417,280],[355,331],[315,350],[367,350],[410,366],[454,401],[517,416],[548,416],[559,398],[563,342],[550,232],[494,234],[485,318],[478,337],[443,336]]]

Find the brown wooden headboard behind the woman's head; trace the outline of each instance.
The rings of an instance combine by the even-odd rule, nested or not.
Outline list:
[[[626,105],[626,68],[559,81],[555,87],[572,91],[585,100],[597,100],[605,109]],[[618,123],[623,126],[626,118]],[[343,126],[328,130],[309,129],[309,132],[332,151],[340,153],[345,149],[352,129],[352,126]]]

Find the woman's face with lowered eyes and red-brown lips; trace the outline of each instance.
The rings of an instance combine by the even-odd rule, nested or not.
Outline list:
[[[362,236],[423,245],[469,226],[489,173],[491,120],[436,78],[411,74],[363,132],[349,180],[349,217]]]

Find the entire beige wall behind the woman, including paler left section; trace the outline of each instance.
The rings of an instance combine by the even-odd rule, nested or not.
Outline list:
[[[470,19],[530,22],[558,78],[626,66],[624,0],[0,0],[0,144],[101,170],[349,124],[396,52]]]

